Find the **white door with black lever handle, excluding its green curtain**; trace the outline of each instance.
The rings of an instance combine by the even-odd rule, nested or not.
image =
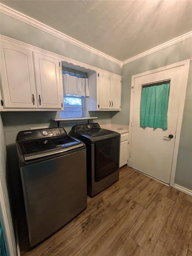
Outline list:
[[[169,183],[181,95],[183,66],[135,78],[132,112],[130,167]],[[142,85],[162,80],[170,81],[168,129],[140,127]],[[173,138],[166,138],[170,134]],[[166,136],[166,137],[164,137]]]

